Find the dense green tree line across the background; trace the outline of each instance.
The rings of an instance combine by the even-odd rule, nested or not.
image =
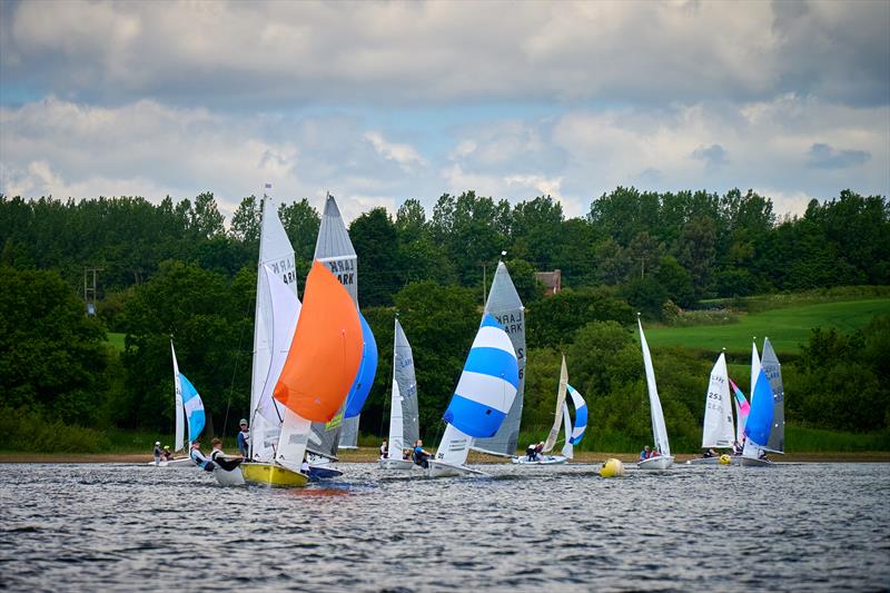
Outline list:
[[[320,217],[305,199],[284,204],[279,215],[301,285]],[[349,225],[359,303],[382,360],[362,431],[386,428],[386,362],[398,312],[414,348],[423,431],[437,435],[478,324],[483,277],[491,281],[506,250],[526,306],[523,425],[552,421],[564,353],[599,437],[645,439],[636,310],[661,319],[715,296],[890,284],[889,215],[884,198],[851,191],[779,219],[772,202],[751,191],[633,188],[617,188],[594,200],[587,216],[570,219],[547,196],[511,206],[472,191],[442,196],[429,218],[414,199],[395,217],[372,209]],[[168,432],[172,337],[180,369],[205,398],[208,431],[231,432],[249,405],[258,200],[245,198],[228,228],[224,223],[210,194],[159,205],[0,196],[0,407]],[[75,288],[82,289],[88,266],[103,268],[97,317],[83,315]],[[554,268],[564,289],[545,298],[533,273]],[[799,358],[783,365],[787,392],[795,394],[789,417],[830,428],[888,427],[890,396],[879,380],[890,352],[881,342],[886,324],[876,319],[852,336],[815,332]],[[119,355],[106,347],[106,330],[126,335]],[[863,348],[872,354],[861,357]],[[712,362],[671,348],[655,364],[672,441],[692,448]]]

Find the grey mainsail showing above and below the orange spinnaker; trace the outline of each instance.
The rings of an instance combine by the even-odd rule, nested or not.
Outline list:
[[[337,201],[330,194],[325,199],[322,213],[315,259],[327,266],[358,307],[358,256],[349,240]],[[335,457],[340,445],[354,447],[357,443],[358,416],[344,421],[343,414],[336,414],[330,422],[313,423],[308,448],[315,454]]]

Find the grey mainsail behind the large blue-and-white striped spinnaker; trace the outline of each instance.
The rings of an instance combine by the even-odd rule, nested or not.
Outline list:
[[[510,336],[518,364],[518,383],[516,397],[510,407],[510,413],[501,424],[497,434],[477,438],[473,448],[494,455],[514,456],[520,439],[520,422],[522,421],[523,391],[525,387],[525,308],[513,286],[507,267],[503,261],[497,263],[497,271],[492,280],[492,290],[485,303],[485,314],[493,316]]]

